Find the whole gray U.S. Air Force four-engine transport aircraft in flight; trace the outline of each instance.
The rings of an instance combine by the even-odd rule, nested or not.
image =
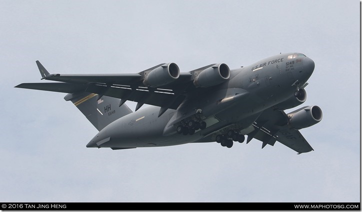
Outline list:
[[[299,129],[318,123],[318,106],[303,106],[314,61],[302,53],[280,53],[230,70],[225,63],[180,72],[161,63],[138,73],[50,74],[36,61],[41,79],[15,87],[68,93],[98,129],[87,147],[126,149],[193,142],[275,141],[298,153],[313,150]],[[124,102],[137,102],[132,112]],[[150,104],[139,109],[143,104]],[[139,110],[138,110],[139,109]]]

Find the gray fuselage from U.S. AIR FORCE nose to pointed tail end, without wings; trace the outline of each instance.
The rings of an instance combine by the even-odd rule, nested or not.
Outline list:
[[[207,135],[224,127],[244,129],[258,115],[293,96],[314,70],[314,62],[301,53],[284,53],[267,57],[251,65],[230,71],[229,80],[200,88],[187,97],[176,110],[167,109],[157,117],[159,107],[147,106],[127,114],[104,127],[87,147],[151,147],[191,142],[214,141]],[[239,96],[241,97],[234,97]],[[192,135],[175,132],[177,124],[168,125],[182,111],[202,110],[207,127]],[[170,121],[171,120],[171,121]]]

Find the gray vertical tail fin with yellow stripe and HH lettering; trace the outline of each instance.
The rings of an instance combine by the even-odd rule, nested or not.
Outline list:
[[[109,96],[101,96],[98,100],[97,98],[98,94],[89,92],[69,93],[64,97],[66,101],[73,102],[98,131],[114,120],[132,112],[125,104],[118,107],[118,98]]]

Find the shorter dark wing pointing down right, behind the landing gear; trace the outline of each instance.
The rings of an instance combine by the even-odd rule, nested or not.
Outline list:
[[[284,111],[266,109],[252,125],[254,130],[247,134],[246,142],[256,138],[263,142],[263,148],[266,144],[274,145],[275,141],[279,141],[299,154],[314,150],[299,130],[288,127]]]

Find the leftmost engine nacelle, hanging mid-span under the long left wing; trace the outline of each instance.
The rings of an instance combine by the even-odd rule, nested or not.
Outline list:
[[[169,84],[179,76],[179,68],[176,63],[170,62],[154,68],[144,74],[143,84],[147,87],[159,87]]]

